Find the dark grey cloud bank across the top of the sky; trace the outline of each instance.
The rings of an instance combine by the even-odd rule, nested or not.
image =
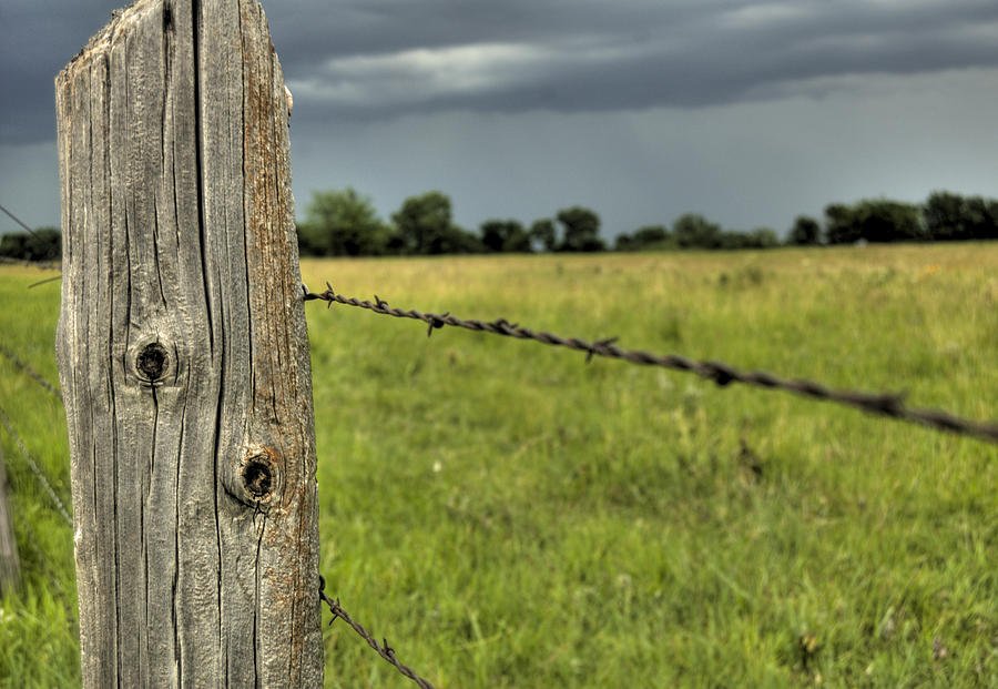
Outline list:
[[[4,0],[0,143],[51,140],[57,71],[119,4]],[[598,112],[819,95],[835,78],[998,65],[994,0],[267,3],[297,122]]]

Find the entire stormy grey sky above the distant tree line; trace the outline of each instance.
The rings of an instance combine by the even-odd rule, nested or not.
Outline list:
[[[59,224],[55,73],[118,1],[0,0],[0,204]],[[612,239],[688,212],[783,234],[832,202],[998,196],[995,0],[264,2],[293,190],[388,219],[584,205]],[[0,232],[19,227],[0,216]]]

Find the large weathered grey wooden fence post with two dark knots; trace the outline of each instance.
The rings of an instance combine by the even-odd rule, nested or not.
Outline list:
[[[318,687],[312,379],[256,0],[138,0],[55,80],[84,687]]]

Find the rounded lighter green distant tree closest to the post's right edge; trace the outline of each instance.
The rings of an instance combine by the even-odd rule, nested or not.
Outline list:
[[[386,252],[390,232],[371,200],[348,186],[312,194],[298,245],[303,254],[376,255]]]

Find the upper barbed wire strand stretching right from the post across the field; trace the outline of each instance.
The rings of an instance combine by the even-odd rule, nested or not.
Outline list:
[[[865,393],[856,391],[834,389],[805,379],[788,379],[760,371],[741,371],[730,366],[723,362],[714,361],[694,361],[678,354],[651,354],[640,349],[622,349],[614,342],[617,338],[598,340],[589,343],[577,337],[561,337],[546,332],[534,332],[526,327],[510,325],[506,318],[499,318],[492,322],[485,321],[464,321],[448,313],[434,314],[420,313],[416,310],[405,311],[388,306],[388,303],[381,298],[375,297],[376,303],[369,301],[360,301],[356,297],[347,297],[337,294],[329,283],[326,283],[326,290],[320,293],[309,292],[305,290],[304,300],[320,300],[332,306],[334,303],[344,304],[346,306],[357,306],[366,308],[386,316],[395,316],[396,318],[414,318],[422,321],[429,325],[429,332],[435,328],[451,325],[455,327],[464,327],[469,331],[480,333],[491,333],[493,335],[505,335],[516,337],[518,340],[532,340],[551,346],[567,347],[583,352],[587,361],[593,356],[605,356],[608,358],[619,358],[632,364],[644,366],[661,366],[673,371],[683,371],[693,373],[702,378],[713,381],[719,386],[724,387],[731,383],[742,383],[744,385],[753,385],[768,389],[782,389],[813,399],[822,399],[825,402],[834,402],[844,406],[862,409],[868,414],[878,414],[899,421],[906,421],[938,430],[948,430],[958,435],[975,437],[988,443],[998,444],[998,424],[979,423],[960,418],[948,412],[939,412],[936,409],[912,408],[905,404],[904,395],[898,393]]]

